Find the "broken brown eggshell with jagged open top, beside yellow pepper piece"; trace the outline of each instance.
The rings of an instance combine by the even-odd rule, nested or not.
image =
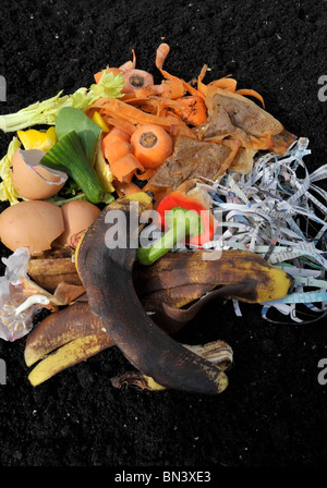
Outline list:
[[[39,164],[45,152],[40,149],[16,149],[11,161],[11,180],[24,198],[41,200],[57,195],[68,175]]]

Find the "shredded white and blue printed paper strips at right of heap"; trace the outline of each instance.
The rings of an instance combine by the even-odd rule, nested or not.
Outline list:
[[[294,278],[290,295],[261,304],[263,317],[275,324],[312,322],[327,313],[327,192],[316,184],[327,178],[327,164],[310,173],[303,162],[310,154],[301,137],[283,156],[258,157],[246,175],[198,183],[219,216],[206,248],[251,251]],[[280,319],[270,317],[272,309]]]

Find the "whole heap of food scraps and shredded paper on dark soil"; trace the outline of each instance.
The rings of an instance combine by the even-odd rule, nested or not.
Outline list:
[[[267,320],[326,312],[327,194],[315,185],[326,167],[308,173],[308,141],[258,93],[229,75],[205,84],[206,65],[186,83],[164,69],[168,53],[167,44],[156,52],[160,84],[133,51],[88,89],[0,117],[15,133],[0,161],[0,237],[12,253],[0,337],[28,334],[33,386],[117,345],[134,370],[116,387],[218,393],[229,344],[171,338],[208,301],[232,300],[238,315],[240,302],[261,304]],[[117,210],[122,248],[112,245]],[[129,222],[154,210],[132,246]]]

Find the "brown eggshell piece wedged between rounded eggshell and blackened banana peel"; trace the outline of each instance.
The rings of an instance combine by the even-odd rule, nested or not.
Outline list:
[[[72,200],[61,207],[64,231],[53,245],[75,248],[83,232],[95,221],[101,210],[87,200]]]

